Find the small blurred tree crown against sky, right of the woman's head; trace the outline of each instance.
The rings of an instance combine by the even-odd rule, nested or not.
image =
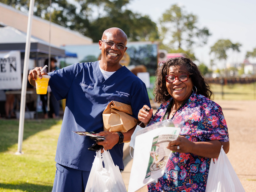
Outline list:
[[[218,60],[227,60],[227,50],[232,49],[233,51],[240,52],[242,44],[233,44],[229,39],[219,39],[212,47],[211,53],[214,53]]]

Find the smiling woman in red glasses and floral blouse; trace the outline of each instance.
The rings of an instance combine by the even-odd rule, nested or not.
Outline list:
[[[210,100],[210,86],[197,66],[183,57],[170,59],[158,69],[154,93],[162,104],[153,117],[147,105],[140,109],[138,118],[145,126],[170,118],[185,123],[179,138],[167,147],[175,152],[163,177],[148,185],[148,191],[204,192],[211,158],[218,158],[221,146],[226,153],[229,150],[221,107]]]

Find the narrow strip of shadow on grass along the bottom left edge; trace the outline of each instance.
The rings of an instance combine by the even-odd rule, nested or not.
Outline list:
[[[35,185],[31,183],[20,183],[20,184],[3,184],[0,183],[0,188],[3,189],[19,189],[27,192],[51,192],[52,186]]]

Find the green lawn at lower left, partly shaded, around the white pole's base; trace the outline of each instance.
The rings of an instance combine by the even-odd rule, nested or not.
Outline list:
[[[18,148],[18,120],[0,120],[0,191],[50,192],[55,175],[54,157],[62,121],[26,120],[23,155]]]

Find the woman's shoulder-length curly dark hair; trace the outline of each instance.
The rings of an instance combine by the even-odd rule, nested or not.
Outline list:
[[[189,78],[191,78],[193,85],[196,86],[196,93],[202,94],[209,99],[213,97],[210,85],[205,82],[204,76],[201,74],[196,64],[193,63],[191,59],[175,57],[163,63],[163,65],[156,71],[156,86],[154,89],[156,102],[166,102],[171,98],[171,95],[168,94],[165,81],[165,76],[168,75],[171,66],[185,66],[189,72]],[[166,96],[164,93],[168,95]]]

